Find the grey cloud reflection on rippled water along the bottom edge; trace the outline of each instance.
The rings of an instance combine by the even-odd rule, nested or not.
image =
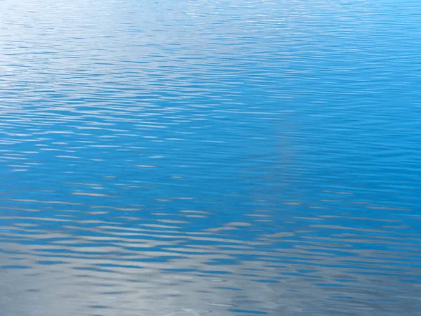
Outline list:
[[[295,239],[286,241],[296,244],[297,247],[295,249],[274,248],[273,251],[266,251],[262,250],[260,246],[267,244],[268,236],[262,240],[265,241],[263,244],[246,243],[235,239],[200,237],[201,235],[208,235],[208,232],[198,232],[196,234],[190,232],[180,237],[174,235],[175,231],[167,230],[163,231],[165,235],[160,235],[162,232],[156,230],[148,230],[147,234],[144,234],[145,230],[142,228],[119,228],[119,224],[116,224],[116,226],[95,226],[95,232],[103,232],[105,237],[84,236],[83,230],[79,230],[77,236],[46,232],[44,235],[36,236],[41,236],[40,239],[46,240],[56,239],[50,243],[50,246],[46,244],[21,244],[18,246],[20,253],[30,254],[18,263],[24,270],[26,270],[25,267],[28,269],[25,272],[25,275],[27,275],[25,278],[33,280],[33,282],[25,282],[25,287],[20,289],[30,290],[27,292],[28,296],[25,299],[32,300],[31,296],[36,296],[37,291],[41,291],[41,289],[44,293],[44,299],[51,299],[53,297],[52,289],[54,289],[54,294],[58,295],[58,288],[56,287],[60,284],[59,297],[73,298],[72,301],[79,301],[79,304],[69,305],[68,308],[72,312],[88,311],[93,306],[104,305],[109,310],[103,310],[102,315],[112,315],[112,312],[119,309],[119,304],[124,302],[123,304],[128,304],[127,312],[149,310],[149,312],[152,312],[152,315],[165,315],[165,313],[173,312],[175,308],[179,308],[179,310],[186,308],[185,299],[188,297],[191,303],[188,304],[187,310],[190,308],[194,312],[199,312],[200,310],[204,312],[206,310],[205,306],[210,304],[219,306],[220,310],[217,309],[218,312],[220,315],[225,315],[224,310],[227,309],[227,306],[234,308],[240,302],[243,305],[244,301],[248,301],[246,305],[253,305],[251,310],[256,310],[256,308],[265,310],[269,303],[274,310],[293,313],[295,309],[290,304],[283,304],[283,301],[279,301],[279,298],[293,299],[297,303],[296,306],[302,306],[303,301],[311,302],[314,298],[313,287],[321,287],[322,284],[326,284],[328,285],[326,291],[328,290],[331,293],[330,295],[334,296],[335,292],[339,291],[338,295],[340,293],[342,296],[347,294],[350,297],[354,297],[355,303],[359,295],[373,296],[373,298],[377,297],[378,299],[380,298],[380,292],[370,292],[370,287],[373,282],[380,282],[383,279],[380,272],[387,273],[389,284],[394,284],[396,287],[393,290],[392,287],[389,290],[385,289],[381,295],[392,298],[399,295],[399,279],[405,278],[404,271],[406,268],[394,265],[393,261],[391,261],[393,258],[390,252],[385,253],[388,257],[388,265],[384,260],[376,261],[373,258],[368,261],[368,258],[374,254],[370,251],[361,251],[361,249],[359,251],[348,250],[349,254],[357,256],[356,259],[349,261],[323,252],[326,249],[335,250],[333,248],[334,244],[332,244],[335,241],[334,238],[326,238],[328,243],[314,247],[316,243],[312,240],[309,242],[304,241],[308,246],[298,246],[300,239],[295,237]],[[243,229],[250,227],[235,225],[235,223],[234,226]],[[42,232],[42,230],[36,231],[38,233]],[[126,233],[123,233],[124,231],[132,231],[133,234],[127,236],[133,236],[135,239],[123,237],[126,235]],[[25,232],[25,230],[22,230],[22,232]],[[135,232],[138,232],[138,234]],[[152,233],[156,237],[161,238],[161,240],[149,239]],[[214,230],[213,234],[215,234]],[[8,232],[7,235],[10,236],[10,233]],[[149,238],[142,239],[142,236]],[[273,244],[274,239],[293,236],[294,234],[291,233],[269,236],[272,239],[270,244]],[[168,239],[168,237],[171,238]],[[171,242],[170,240],[174,239],[173,237],[176,238]],[[36,240],[32,236],[31,239]],[[212,240],[213,245],[198,244],[194,247],[183,247],[183,240],[186,239],[194,241]],[[348,243],[348,248],[354,242],[364,242],[358,239],[354,241],[349,238],[338,239],[342,244],[345,240]],[[232,245],[222,244],[218,246],[218,242],[228,242]],[[83,246],[86,243],[91,243],[92,246]],[[232,249],[233,247],[237,248],[237,243],[239,244],[238,250]],[[15,252],[16,244],[10,244],[10,246]],[[163,251],[162,248],[161,251],[158,249],[156,251],[150,250],[160,246],[165,246],[166,250]],[[312,249],[323,251],[313,254]],[[55,254],[55,250],[60,250],[61,252]],[[347,252],[346,249],[338,250]],[[381,254],[381,251],[377,251],[376,256],[379,254]],[[248,256],[250,258],[247,258]],[[18,258],[19,254],[16,254],[15,257]],[[241,257],[246,257],[246,259],[239,259]],[[41,258],[44,258],[46,263],[50,262],[53,265],[36,265],[35,274],[33,275],[34,272],[31,272],[32,269],[30,267],[34,266],[34,261],[42,262],[43,259]],[[366,269],[361,268],[361,262],[358,261],[358,258],[361,258],[360,260],[365,258],[363,262],[366,265]],[[399,256],[396,256],[396,259],[398,258]],[[15,265],[16,262],[13,261],[13,257],[11,259],[11,261],[4,262],[2,265],[5,267]],[[150,260],[152,262],[148,262]],[[209,265],[212,261],[232,261],[232,264],[227,265],[228,262],[225,262],[221,266],[223,267],[222,269],[218,268],[218,265],[212,268]],[[377,264],[381,264],[382,268],[379,268]],[[354,268],[352,268],[353,266]],[[379,272],[377,276],[373,272],[373,268]],[[168,274],[166,270],[180,271],[180,274],[178,275],[177,272]],[[370,273],[369,278],[364,274],[361,275],[364,271]],[[208,272],[211,272],[210,275],[208,275]],[[11,276],[16,278],[19,274],[16,276],[16,272],[10,270],[10,273],[6,275],[6,279]],[[271,282],[266,284],[265,280],[270,280]],[[259,283],[260,281],[263,283]],[[258,283],[256,284],[255,282]],[[144,285],[142,286],[142,284]],[[335,289],[335,284],[339,288]],[[160,305],[158,310],[156,310],[156,294],[168,294],[166,292],[168,286],[171,286],[172,289],[178,289],[177,295],[171,296],[171,303]],[[246,294],[244,289],[248,287],[253,287],[254,289],[253,295],[250,294],[250,297],[240,298],[236,294],[241,289],[239,294],[241,293],[241,296],[244,296]],[[77,289],[77,291],[74,291],[74,289]],[[215,291],[216,289],[218,291]],[[294,298],[292,296],[293,291],[290,291],[293,289],[307,292],[308,296],[305,298],[302,296]],[[359,289],[364,290],[361,292]],[[218,296],[215,296],[217,292]],[[89,293],[89,296],[83,296],[84,293]],[[154,295],[149,296],[148,293],[154,293]],[[172,293],[175,294],[175,292]],[[222,293],[223,295],[221,295]],[[39,300],[39,298],[36,299]],[[142,301],[141,305],[133,305],[139,300]],[[261,305],[259,307],[259,305],[256,305],[260,301],[265,301],[265,306]],[[373,305],[374,307],[363,305],[362,302],[359,301],[358,304],[365,306],[368,310],[375,307],[375,305]],[[37,308],[41,308],[43,303],[47,302],[41,300],[35,305]],[[349,301],[349,303],[354,304],[352,301]],[[314,304],[317,304],[316,301],[311,303],[311,305]],[[51,306],[53,310],[49,311],[50,314],[47,312],[46,315],[53,315],[54,305]],[[335,304],[330,304],[330,306],[335,308]],[[307,308],[296,309],[305,312]],[[210,311],[208,310],[208,312]]]

